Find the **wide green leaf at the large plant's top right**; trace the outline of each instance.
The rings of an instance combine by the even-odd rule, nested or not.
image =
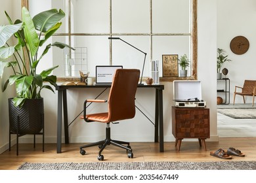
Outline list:
[[[46,10],[33,17],[33,24],[35,25],[35,29],[37,29],[37,31],[46,33],[62,18],[64,18],[64,16],[65,13],[61,9],[59,11],[56,8]]]

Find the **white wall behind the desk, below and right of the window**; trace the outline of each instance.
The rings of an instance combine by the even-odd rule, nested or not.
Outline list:
[[[211,139],[218,141],[216,112],[216,48],[217,48],[217,13],[216,1],[198,0],[198,80],[202,80],[202,95],[207,101],[211,114]],[[2,7],[0,7],[2,10]],[[173,105],[173,83],[163,82],[163,120],[164,141],[174,141],[171,134],[171,105]],[[95,97],[100,89],[68,90],[68,118],[71,122],[83,107],[85,98]],[[1,93],[2,94],[2,93]],[[44,91],[45,101],[45,142],[56,142],[57,93]],[[107,98],[108,93],[102,97]],[[137,106],[154,121],[154,90],[138,89]],[[1,98],[7,103],[7,97]],[[91,110],[95,110],[94,106]],[[1,115],[2,116],[2,115]],[[2,119],[1,119],[2,120]],[[1,124],[2,127],[3,123]],[[77,119],[70,125],[70,142],[91,142],[104,138],[105,124],[85,123]],[[63,137],[64,135],[62,135]],[[0,147],[8,144],[8,131],[1,133],[6,140]],[[112,125],[113,139],[125,141],[154,141],[154,126],[137,110],[133,120]],[[63,139],[64,140],[64,139]],[[29,135],[20,138],[20,142],[32,142]],[[196,141],[196,139],[195,139]],[[63,142],[63,141],[62,141]]]

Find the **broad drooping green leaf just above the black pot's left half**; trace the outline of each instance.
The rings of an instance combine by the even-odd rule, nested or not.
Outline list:
[[[16,80],[16,92],[18,95],[23,96],[28,90],[33,82],[33,76],[24,76]]]

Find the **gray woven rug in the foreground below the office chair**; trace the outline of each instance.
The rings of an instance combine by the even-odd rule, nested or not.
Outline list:
[[[256,170],[256,161],[24,163],[18,170]]]

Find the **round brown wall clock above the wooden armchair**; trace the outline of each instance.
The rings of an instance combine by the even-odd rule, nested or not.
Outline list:
[[[249,41],[244,36],[234,37],[230,42],[230,49],[234,54],[245,54],[249,49]]]

